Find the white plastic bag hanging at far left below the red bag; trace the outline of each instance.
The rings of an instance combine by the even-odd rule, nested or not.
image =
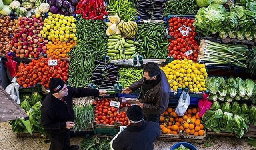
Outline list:
[[[19,96],[19,87],[20,85],[16,82],[17,78],[12,79],[12,83],[8,85],[5,91],[11,96],[11,98],[17,103],[20,104]]]

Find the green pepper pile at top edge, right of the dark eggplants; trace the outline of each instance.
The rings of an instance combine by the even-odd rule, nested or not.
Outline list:
[[[199,9],[199,7],[196,4],[197,1],[199,0],[167,0],[164,8],[164,15],[194,15]]]

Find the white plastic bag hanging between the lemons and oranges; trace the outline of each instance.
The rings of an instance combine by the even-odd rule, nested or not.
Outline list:
[[[176,107],[175,110],[176,114],[178,114],[178,116],[183,116],[186,110],[188,109],[189,104],[190,96],[188,93],[185,92],[185,90],[183,90],[178,101],[178,106]]]

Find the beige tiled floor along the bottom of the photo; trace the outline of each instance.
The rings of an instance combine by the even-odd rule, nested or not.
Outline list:
[[[74,136],[70,139],[70,144],[79,145],[84,137]],[[45,143],[45,137],[39,138],[17,138],[12,132],[8,122],[0,123],[0,150],[48,150],[50,143]],[[206,142],[212,144],[205,147],[203,144],[194,144],[198,150],[256,150],[250,146],[245,139],[235,137],[211,136]],[[170,150],[175,142],[154,143],[154,150]]]

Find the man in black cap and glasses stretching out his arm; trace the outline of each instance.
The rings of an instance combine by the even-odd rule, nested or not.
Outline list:
[[[70,129],[74,122],[72,99],[86,96],[105,96],[105,90],[71,88],[59,78],[51,78],[50,93],[41,107],[41,124],[51,141],[49,150],[78,150],[79,146],[70,146]]]

